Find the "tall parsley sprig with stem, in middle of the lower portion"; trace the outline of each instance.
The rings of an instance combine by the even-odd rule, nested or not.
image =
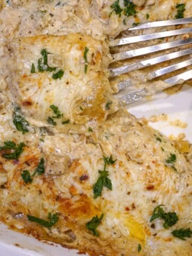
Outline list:
[[[103,161],[105,163],[104,170],[98,171],[100,176],[99,176],[98,180],[96,181],[96,183],[94,183],[94,185],[93,185],[94,198],[101,196],[103,187],[106,187],[106,188],[112,190],[112,183],[111,183],[110,179],[107,178],[109,175],[109,172],[106,171],[106,166],[110,165],[110,164],[114,164],[116,162],[116,160],[113,160],[112,156],[110,156],[110,157],[103,156]]]

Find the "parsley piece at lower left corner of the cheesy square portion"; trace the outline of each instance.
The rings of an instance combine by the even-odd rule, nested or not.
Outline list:
[[[26,132],[29,132],[27,126],[29,126],[29,123],[26,121],[25,118],[21,116],[20,108],[15,107],[13,111],[13,123],[18,131],[25,134]]]

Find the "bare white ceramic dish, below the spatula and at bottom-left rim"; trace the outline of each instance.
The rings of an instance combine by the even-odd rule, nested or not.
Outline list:
[[[160,93],[150,100],[143,99],[129,105],[127,109],[137,117],[149,118],[152,115],[168,114],[166,122],[149,123],[166,135],[178,135],[185,133],[186,138],[192,142],[192,87],[184,86],[182,91],[167,95]],[[186,122],[185,129],[171,126],[171,120],[179,119]],[[15,246],[17,244],[17,246]],[[62,248],[60,245],[49,245],[36,241],[7,229],[0,225],[0,255],[1,256],[77,256],[74,250]]]

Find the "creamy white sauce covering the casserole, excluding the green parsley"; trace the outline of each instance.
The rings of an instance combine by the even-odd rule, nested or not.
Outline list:
[[[22,226],[13,218],[12,213],[17,211],[21,204],[25,215],[30,213],[42,219],[47,218],[48,212],[60,212],[61,222],[58,226],[51,231],[45,228],[45,231],[52,238],[60,238],[65,246],[85,251],[89,251],[89,247],[92,247],[95,252],[107,256],[113,253],[135,256],[141,255],[138,252],[140,243],[143,255],[176,256],[182,251],[182,256],[189,256],[190,240],[187,238],[186,242],[180,241],[170,233],[175,228],[192,228],[191,153],[189,151],[185,158],[163,135],[138,123],[126,111],[122,109],[117,111],[117,101],[111,95],[113,90],[108,83],[106,71],[111,60],[106,44],[108,39],[115,38],[134,22],[174,18],[175,5],[178,2],[174,0],[133,2],[138,5],[137,14],[128,18],[123,13],[119,17],[115,12],[109,17],[110,6],[114,3],[112,0],[0,2],[1,146],[6,140],[14,140],[17,143],[24,141],[27,145],[19,158],[19,163],[5,161],[1,157],[3,167],[0,172],[0,183],[9,185],[9,189],[0,189],[1,218],[6,216],[8,221],[4,221],[7,223],[10,221],[19,229],[25,226],[27,220],[23,220]],[[123,1],[119,3],[123,7]],[[190,17],[191,1],[182,1],[182,3],[186,3],[185,17]],[[145,7],[140,8],[139,6],[143,4]],[[146,17],[147,13],[149,20]],[[85,36],[84,42],[90,47],[87,59],[89,65],[93,66],[92,73],[84,74],[83,51],[86,44],[79,50],[76,41],[75,44],[74,42],[67,44],[63,41],[66,48],[65,54],[62,55],[59,51],[63,45],[59,45],[59,41],[51,41],[47,46],[46,40],[49,40],[47,36],[41,43],[36,43],[38,39],[34,39],[34,36],[41,38],[41,35],[64,36],[71,33],[88,35]],[[29,36],[31,38],[25,39]],[[26,44],[23,43],[25,40]],[[48,58],[49,65],[66,68],[61,80],[53,81],[51,73],[40,75],[38,72],[32,75],[30,73],[31,63],[35,63],[37,69],[38,58],[41,57],[40,52],[44,45],[50,47],[49,51],[54,51],[51,58]],[[143,45],[146,43],[139,44],[139,46]],[[132,45],[129,49],[135,47]],[[70,54],[67,54],[70,48]],[[122,47],[121,50],[126,49]],[[97,53],[101,54],[98,59],[101,60],[102,65],[91,64],[96,59],[92,54]],[[124,64],[126,63],[130,62]],[[105,74],[99,76],[103,70]],[[137,88],[144,87],[143,82],[145,82],[144,85],[149,93],[164,89],[165,84],[161,80],[155,83],[147,82],[146,74],[148,71],[147,73],[142,70],[133,71],[124,78],[134,77],[134,86]],[[27,79],[37,78],[38,82],[42,79],[43,89],[40,90],[34,81],[25,82],[25,75]],[[24,82],[21,83],[20,88],[18,81],[21,80]],[[67,80],[72,84],[71,87],[63,87],[63,83],[66,84]],[[118,78],[114,83],[116,82]],[[103,95],[108,100],[106,102],[109,102],[110,110],[106,110],[106,102],[102,102],[99,105],[99,109],[104,113],[102,121],[89,116],[92,110],[91,114],[87,114],[88,117],[83,125],[81,122],[78,125],[72,124],[78,115],[81,115],[80,110],[76,117],[71,114],[75,104],[74,98],[84,97],[84,100],[87,98],[90,100],[87,105],[92,107],[94,105],[91,101],[94,99],[92,93],[99,85],[105,92]],[[73,93],[75,97],[71,98]],[[15,129],[12,112],[15,103],[21,105],[21,101],[28,98],[41,105],[39,108],[21,106],[25,118],[30,123],[29,132],[22,134]],[[96,103],[97,100],[98,98],[95,100]],[[115,103],[111,104],[110,100]],[[51,115],[49,106],[53,103],[59,106],[66,119],[70,119],[70,124],[57,125],[57,127],[47,124],[46,119]],[[117,113],[105,120],[108,114],[116,111]],[[41,126],[48,128],[39,129]],[[93,131],[90,131],[90,127]],[[159,137],[160,141],[157,140]],[[170,154],[174,154],[177,159],[174,166],[166,162]],[[108,157],[111,155],[113,159],[117,159],[114,165],[107,165],[112,190],[105,187],[102,196],[94,199],[93,185],[99,177],[98,170],[103,170],[103,155]],[[41,157],[45,158],[44,176],[36,175],[33,182],[26,185],[21,179],[21,172],[28,169],[33,173]],[[26,165],[26,162],[31,164]],[[85,174],[88,179],[80,180],[79,177]],[[86,196],[85,206],[90,206],[90,211],[82,207],[84,205],[82,195]],[[60,199],[63,201],[59,201]],[[68,199],[71,205],[68,204],[67,209],[63,210],[62,207],[66,202],[64,199]],[[158,219],[154,222],[155,227],[151,228],[149,219],[154,207],[159,204],[165,205],[166,212],[177,212],[179,216],[177,225],[165,230],[163,221]],[[77,213],[80,211],[80,214],[73,216],[76,207]],[[96,214],[100,216],[102,212],[105,217],[97,229],[100,236],[93,237],[85,229],[85,223]],[[69,237],[65,233],[68,230],[75,233],[72,242],[71,240],[69,242]],[[92,242],[93,238],[94,242]],[[171,240],[166,241],[167,238]]]

